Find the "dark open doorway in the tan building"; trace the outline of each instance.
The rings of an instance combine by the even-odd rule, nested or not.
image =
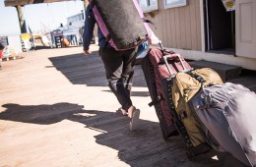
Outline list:
[[[204,0],[206,51],[235,54],[235,12],[222,0]]]

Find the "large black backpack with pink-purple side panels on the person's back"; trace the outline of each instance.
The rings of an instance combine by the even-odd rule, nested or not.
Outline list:
[[[90,0],[96,22],[115,50],[139,46],[151,36],[137,0]]]

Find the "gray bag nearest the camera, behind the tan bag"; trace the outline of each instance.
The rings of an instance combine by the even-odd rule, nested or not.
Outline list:
[[[247,166],[256,166],[256,94],[241,84],[204,87],[189,104],[208,142]]]

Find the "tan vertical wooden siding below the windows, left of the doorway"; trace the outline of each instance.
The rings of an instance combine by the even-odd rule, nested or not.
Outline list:
[[[200,0],[188,0],[185,7],[164,9],[159,0],[159,11],[145,13],[164,47],[198,50],[201,47]]]

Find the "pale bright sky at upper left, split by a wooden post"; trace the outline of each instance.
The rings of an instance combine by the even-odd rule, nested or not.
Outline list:
[[[32,31],[42,28],[50,30],[61,23],[66,25],[66,18],[84,10],[83,1],[64,1],[55,3],[33,4],[23,7],[27,24]],[[15,7],[5,7],[4,0],[0,0],[0,35],[20,34],[18,13]]]

